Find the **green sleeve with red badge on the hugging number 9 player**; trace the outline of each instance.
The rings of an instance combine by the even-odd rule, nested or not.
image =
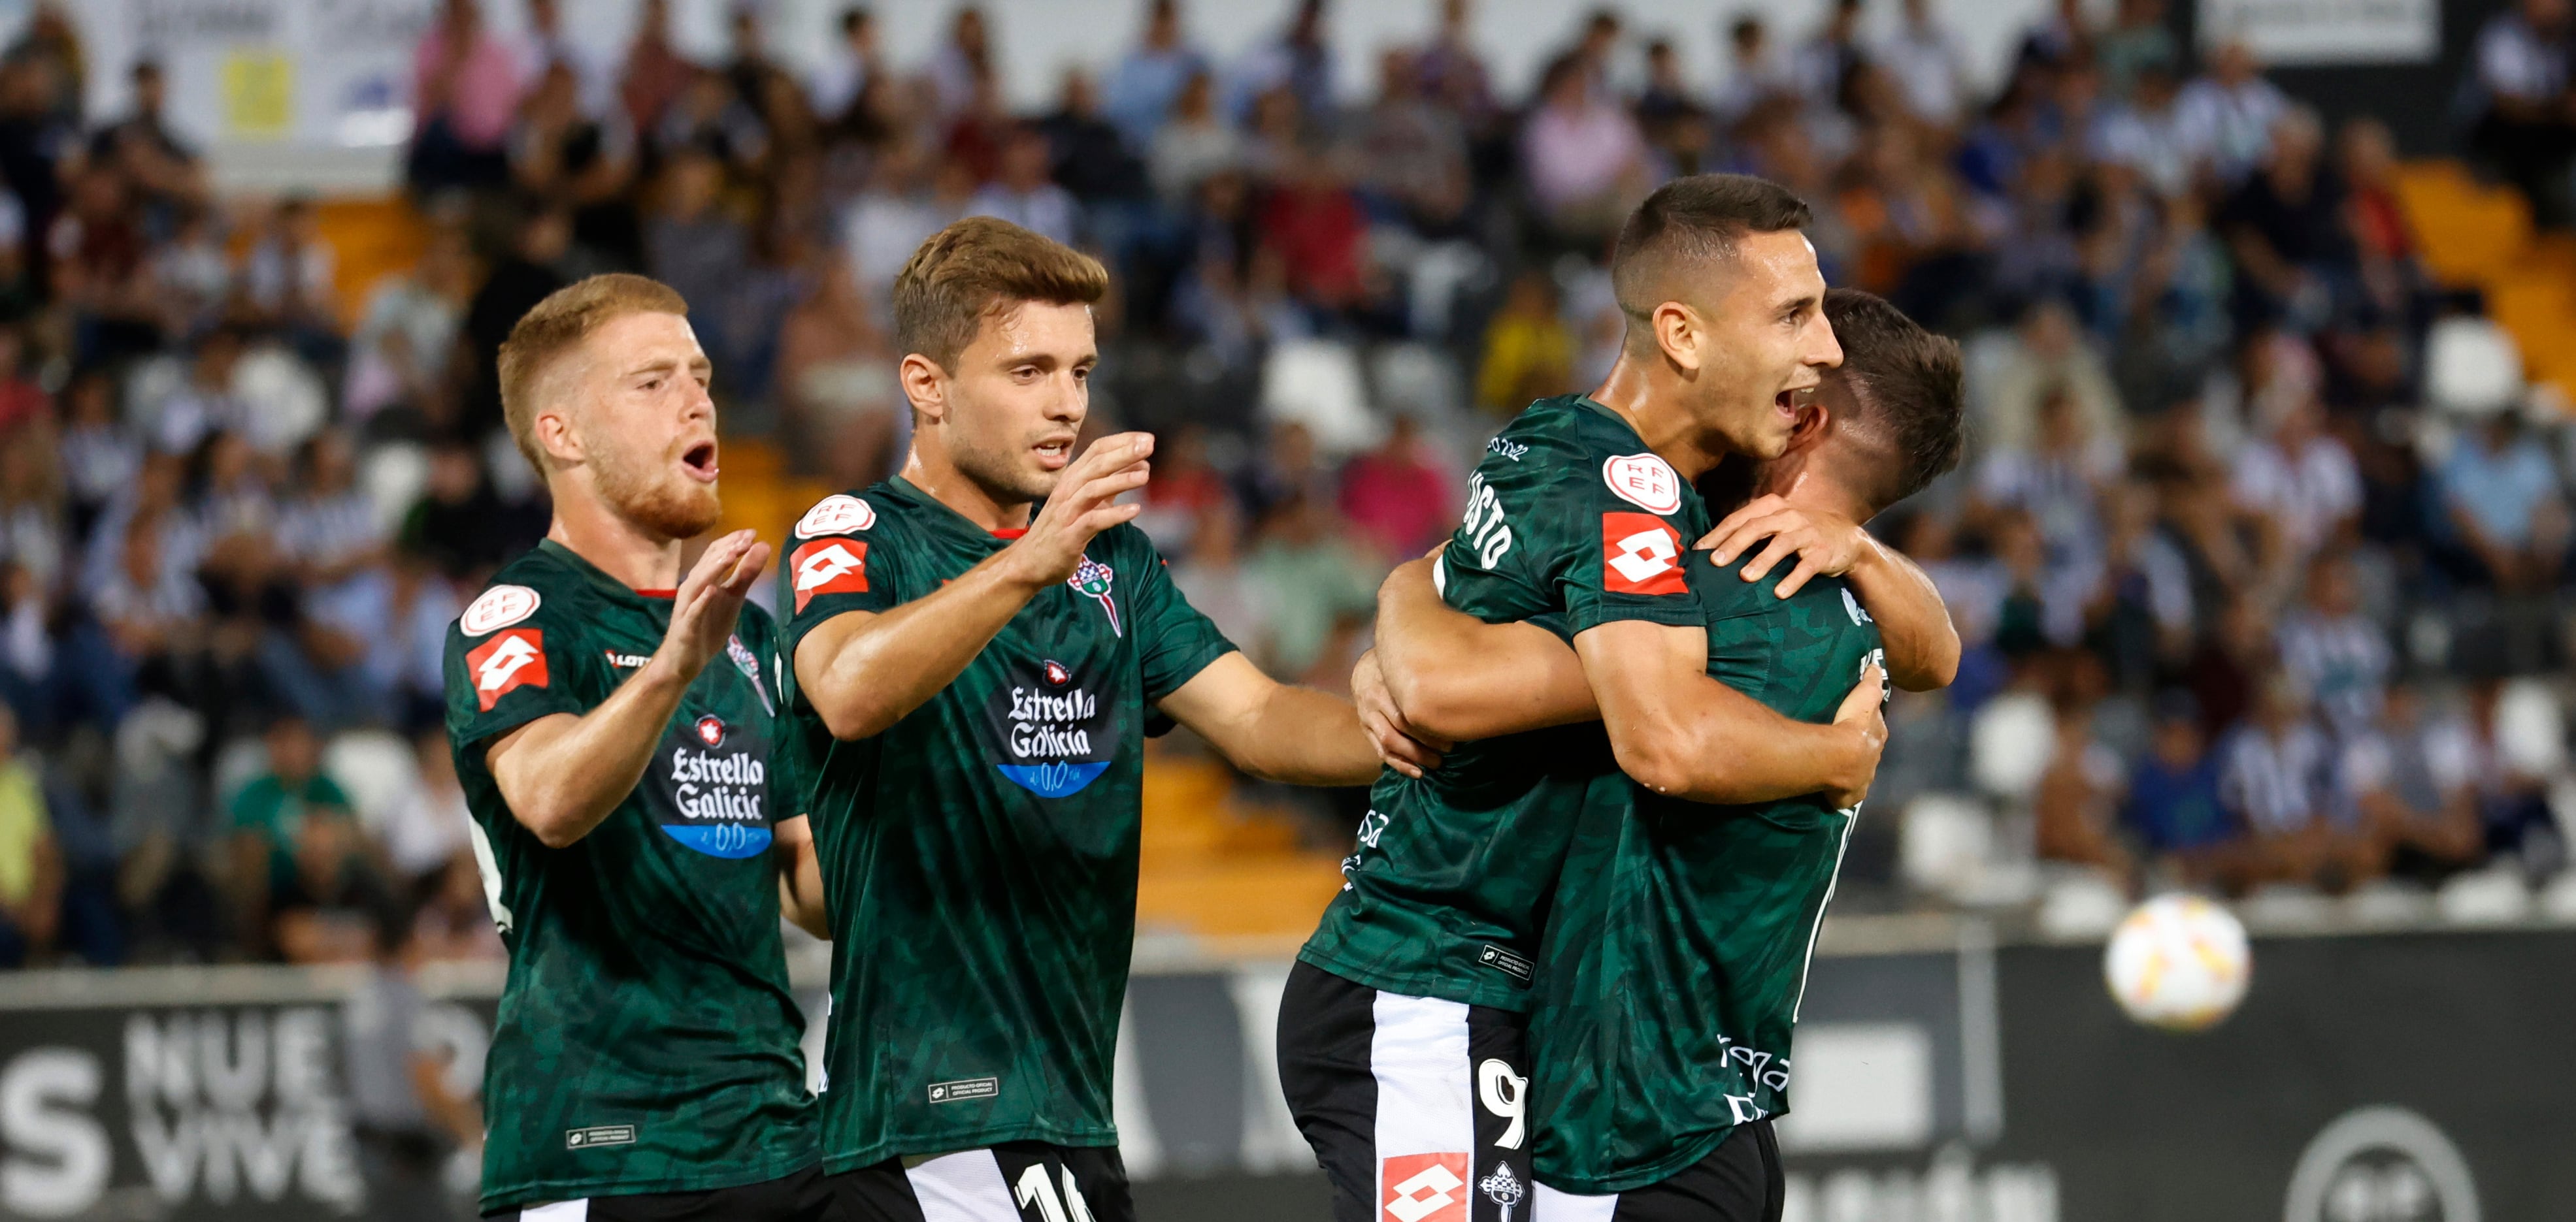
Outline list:
[[[1535,527],[1548,535],[1551,579],[1566,628],[1615,620],[1674,628],[1703,623],[1685,579],[1692,491],[1651,453],[1574,461],[1551,479]]]

